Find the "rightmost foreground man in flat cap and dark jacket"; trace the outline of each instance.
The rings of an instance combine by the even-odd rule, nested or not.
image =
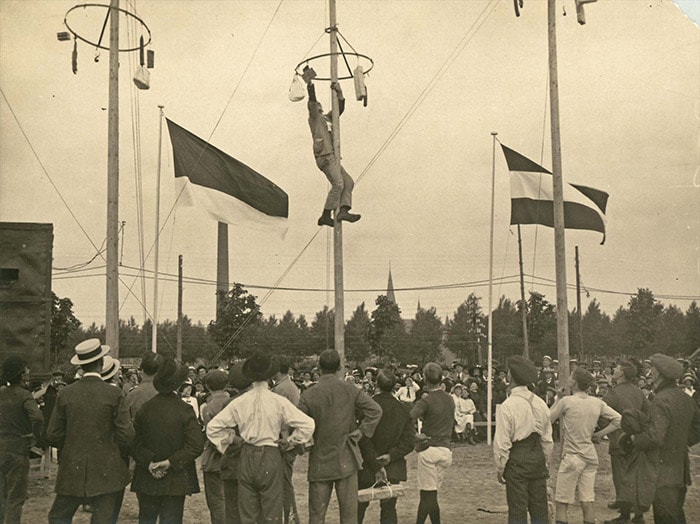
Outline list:
[[[683,373],[680,362],[661,353],[649,360],[655,391],[650,424],[632,435],[632,442],[635,448],[647,452],[656,469],[656,478],[650,479],[656,484],[654,522],[684,523],[683,504],[690,484],[688,446],[700,441],[700,409],[676,385]]]

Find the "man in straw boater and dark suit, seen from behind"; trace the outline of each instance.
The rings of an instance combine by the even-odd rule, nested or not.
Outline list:
[[[50,524],[72,522],[84,501],[92,506],[91,523],[111,524],[117,495],[129,483],[119,447],[131,444],[134,427],[119,388],[100,377],[108,352],[96,338],[75,346],[71,364],[82,368],[83,377],[56,398],[47,438],[62,452]]]

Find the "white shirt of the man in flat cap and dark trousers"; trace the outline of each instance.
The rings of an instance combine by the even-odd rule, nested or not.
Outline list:
[[[544,455],[549,462],[554,446],[549,416],[547,404],[529,391],[527,386],[513,388],[510,396],[496,410],[493,456],[498,471],[503,472],[506,468],[513,442],[526,439],[531,433],[539,434]]]

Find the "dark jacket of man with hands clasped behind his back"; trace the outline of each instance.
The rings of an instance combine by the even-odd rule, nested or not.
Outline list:
[[[132,456],[136,461],[131,491],[154,496],[199,493],[195,459],[202,454],[204,433],[192,407],[175,393],[159,393],[136,414]],[[148,471],[151,462],[170,461],[161,479]]]

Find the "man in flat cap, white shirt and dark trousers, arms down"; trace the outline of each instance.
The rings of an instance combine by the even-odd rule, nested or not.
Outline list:
[[[537,368],[526,358],[508,359],[513,389],[496,412],[493,454],[498,482],[506,485],[508,522],[546,524],[547,477],[552,454],[552,423],[547,404],[528,390]]]

